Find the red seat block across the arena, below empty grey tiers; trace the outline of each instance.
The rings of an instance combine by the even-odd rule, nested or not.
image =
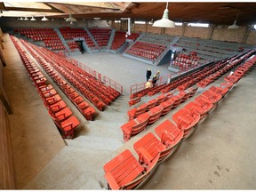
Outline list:
[[[156,60],[159,55],[164,52],[164,45],[149,44],[137,41],[132,47],[126,51],[127,54],[139,56],[146,60]]]

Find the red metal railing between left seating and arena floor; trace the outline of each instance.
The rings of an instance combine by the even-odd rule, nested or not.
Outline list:
[[[116,83],[116,81],[108,78],[107,76],[103,76],[102,78],[101,74],[98,71],[92,68],[89,68],[88,66],[84,65],[81,62],[78,62],[77,60],[74,60],[73,58],[67,57],[67,60],[73,63],[76,67],[82,68],[85,72],[87,72],[88,74],[93,76],[95,79],[100,81],[100,83],[115,89],[117,92],[120,92],[121,94],[123,93],[123,86],[121,84]]]

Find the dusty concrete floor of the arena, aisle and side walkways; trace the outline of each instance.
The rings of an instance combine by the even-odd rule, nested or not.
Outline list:
[[[158,124],[172,118],[172,114],[189,102],[124,143],[120,125],[128,121],[128,92],[132,84],[145,81],[148,65],[112,53],[73,56],[123,84],[125,92],[106,111],[100,112],[95,121],[83,120],[76,138],[65,140],[65,146],[31,84],[18,52],[14,52],[9,36],[4,36],[4,41],[7,60],[4,80],[14,108],[14,114],[9,119],[17,188],[20,189],[106,188],[103,165],[124,148],[131,149],[135,154],[132,144],[136,140],[148,132],[154,132]],[[165,69],[164,66],[149,67],[153,73],[159,68],[162,75],[169,73],[168,64]],[[168,160],[159,164],[141,189],[255,189],[255,76],[255,70],[244,76],[197,126],[193,135],[182,141]],[[51,82],[50,79],[48,81]],[[220,78],[215,84],[222,81]],[[65,96],[62,98],[67,99]],[[152,98],[145,97],[142,102],[149,99]],[[73,108],[72,111],[74,114],[77,112]]]

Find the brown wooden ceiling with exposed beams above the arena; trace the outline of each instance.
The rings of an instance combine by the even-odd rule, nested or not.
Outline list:
[[[2,2],[0,13],[4,17],[67,18],[71,13],[76,19],[119,20],[159,20],[163,16],[166,3],[156,2]],[[256,3],[169,3],[169,19],[177,22],[202,22],[230,25],[236,20],[238,25],[256,24]]]

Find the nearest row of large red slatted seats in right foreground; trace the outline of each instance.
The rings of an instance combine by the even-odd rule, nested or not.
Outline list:
[[[248,52],[248,55],[255,54],[255,51]],[[245,57],[247,57],[245,56]],[[248,57],[247,57],[248,58]],[[197,124],[217,106],[217,103],[224,98],[241,77],[245,75],[256,63],[256,56],[252,56],[242,66],[236,68],[231,76],[227,76],[227,83],[220,87],[212,86],[203,92],[195,100],[189,102],[184,108],[180,108],[172,116],[172,121],[165,120],[164,123],[155,128],[155,134],[148,132],[140,140],[133,144],[133,149],[139,159],[132,155],[132,151],[124,149],[119,155],[103,166],[105,178],[108,181],[108,189],[135,189],[147,180],[152,170],[159,162],[164,162],[170,157],[180,145],[195,131]]]

